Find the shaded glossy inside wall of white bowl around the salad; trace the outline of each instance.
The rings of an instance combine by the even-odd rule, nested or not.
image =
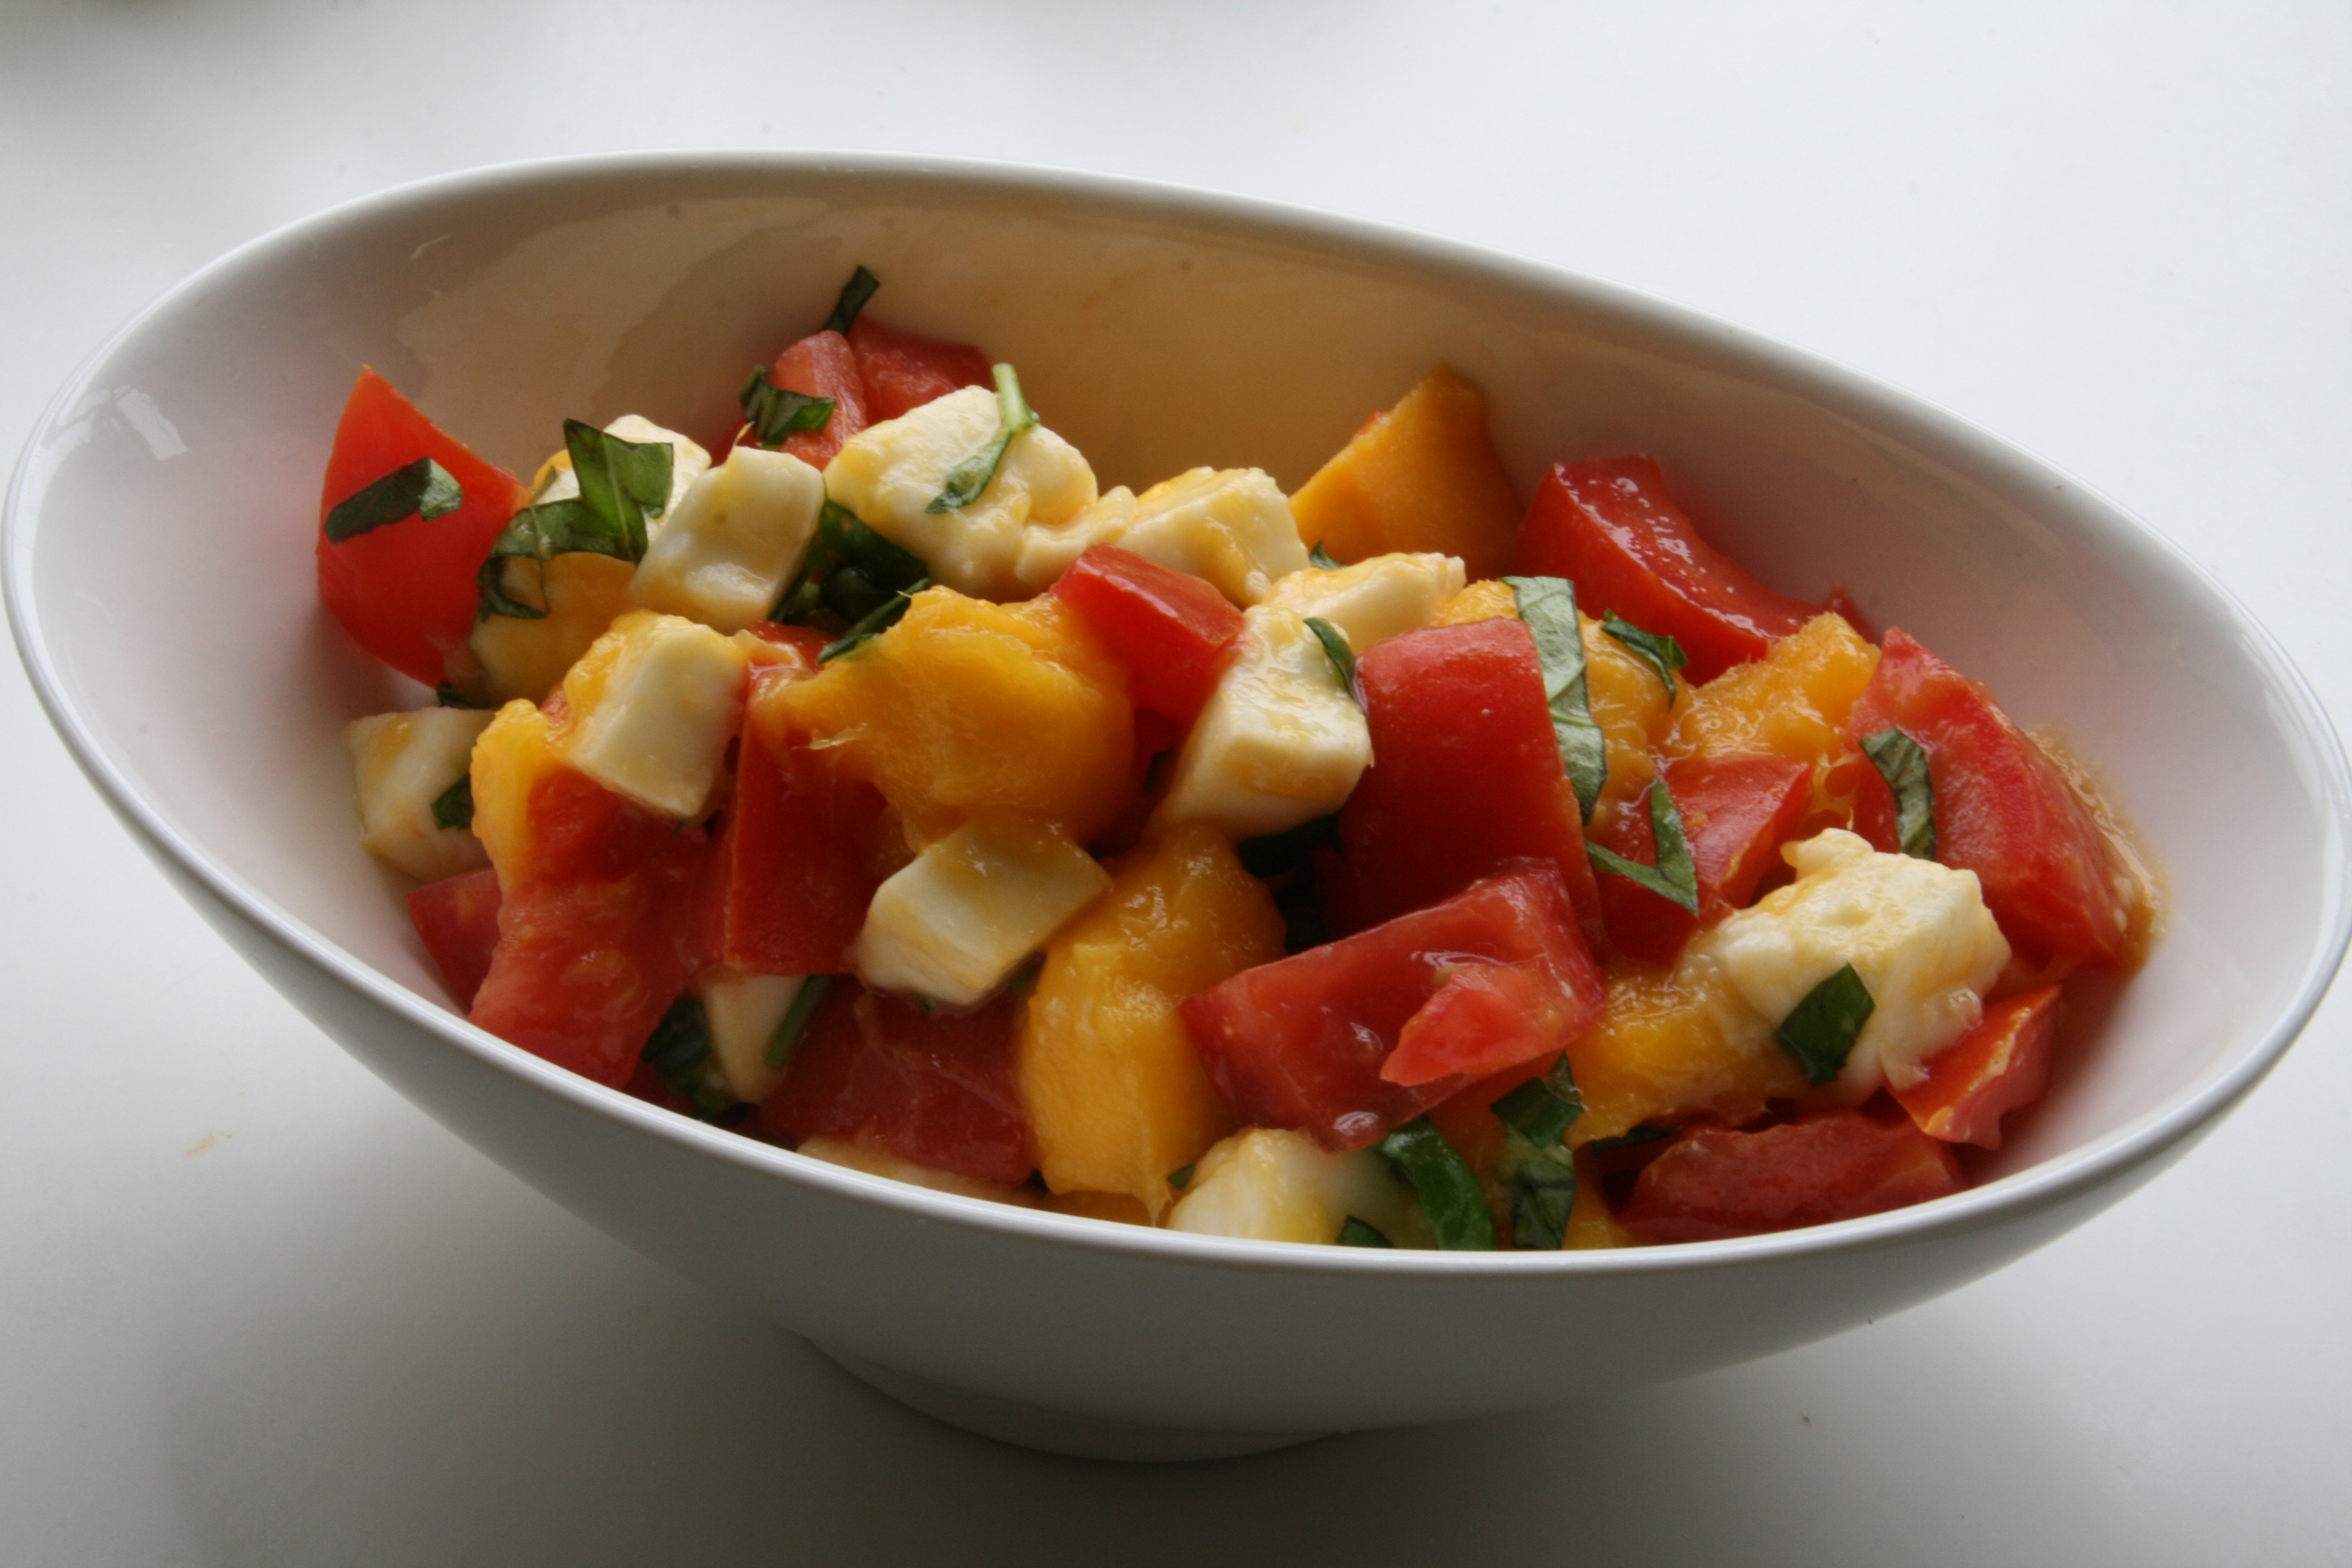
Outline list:
[[[19,470],[12,609],[85,757],[273,919],[440,999],[358,849],[343,722],[423,693],[318,609],[334,418],[374,364],[515,470],[560,418],[720,440],[746,369],[856,263],[873,310],[1021,367],[1096,463],[1296,487],[1432,362],[1486,388],[1522,494],[1644,449],[1776,588],[1884,625],[2056,729],[2129,804],[2169,919],[2082,1011],[1994,1175],[2246,1079],[2343,943],[2343,769],[2270,642],[2063,475],[1736,329],[1336,221],[1073,176],[786,158],[487,172],[261,240],[134,322]],[[2213,832],[2227,802],[2227,832]]]

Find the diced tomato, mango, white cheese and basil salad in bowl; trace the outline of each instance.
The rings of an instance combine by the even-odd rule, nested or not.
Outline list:
[[[1646,456],[1522,503],[1437,367],[1291,496],[1103,491],[863,313],[529,484],[360,371],[320,595],[473,1023],[802,1154],[1101,1220],[1597,1248],[1957,1192],[2150,879],[1903,630]]]

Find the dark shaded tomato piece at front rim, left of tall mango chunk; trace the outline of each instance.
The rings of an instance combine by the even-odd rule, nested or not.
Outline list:
[[[868,1138],[898,1159],[1014,1187],[1037,1166],[1014,1077],[1018,1001],[955,1016],[837,978],[760,1103],[771,1138]]]

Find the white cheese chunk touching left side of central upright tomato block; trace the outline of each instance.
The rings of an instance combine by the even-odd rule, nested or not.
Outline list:
[[[1338,811],[1371,764],[1371,729],[1308,623],[1242,611],[1242,646],[1192,722],[1162,823],[1202,820],[1256,839]]]

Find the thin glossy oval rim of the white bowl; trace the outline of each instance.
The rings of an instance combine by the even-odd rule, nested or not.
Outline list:
[[[99,745],[96,733],[66,701],[61,675],[42,635],[31,585],[33,557],[40,538],[38,512],[40,503],[47,498],[47,482],[54,470],[54,461],[64,456],[61,451],[54,451],[64,416],[80,407],[106,364],[125,346],[136,341],[151,322],[167,317],[183,301],[202,296],[214,280],[256,261],[266,261],[292,247],[308,249],[315,237],[334,233],[346,223],[395,214],[405,207],[428,209],[452,197],[546,188],[550,181],[555,186],[576,183],[595,188],[612,181],[635,181],[659,174],[684,176],[710,172],[816,181],[847,179],[868,186],[898,186],[910,197],[920,195],[924,188],[953,188],[983,195],[1061,197],[1075,200],[1075,205],[1096,214],[1131,214],[1174,221],[1185,228],[1204,230],[1204,237],[1214,235],[1225,240],[1282,242],[1319,256],[1348,252],[1362,261],[1378,263],[1383,275],[1428,273],[1454,280],[1475,277],[1484,284],[1505,284],[1515,294],[1571,301],[1595,315],[1628,322],[1651,339],[1653,346],[1703,348],[1715,360],[1731,360],[1731,369],[1759,374],[1773,386],[1799,393],[1825,411],[1905,442],[1915,451],[1933,454],[1943,449],[1966,458],[1966,463],[1978,473],[1994,473],[2006,480],[2030,480],[2032,484],[2060,482],[2063,489],[2072,491],[2072,505],[2091,508],[2093,517],[2086,527],[2091,527],[2093,534],[2100,534],[2105,545],[2136,552],[2143,562],[2157,569],[2169,569],[2194,583],[2220,611],[2220,616],[2232,623],[2246,661],[2270,686],[2270,696],[2274,698],[2274,724],[2288,748],[2303,752],[2303,762],[2317,785],[2314,792],[2326,811],[2326,853],[2319,856],[2319,940],[2312,945],[2303,973],[2296,978],[2284,1006],[2270,1018],[2260,1037],[2253,1039],[2237,1060],[2206,1070],[2169,1100],[2077,1150],[2067,1150],[2058,1157],[1969,1187],[1952,1197],[1879,1215],[1769,1232],[1759,1237],[1618,1251],[1449,1253],[1305,1246],[1289,1241],[1200,1237],[1190,1232],[1021,1208],[868,1175],[847,1166],[833,1166],[781,1145],[694,1121],[677,1112],[637,1100],[619,1088],[607,1088],[555,1067],[553,1063],[546,1063],[529,1051],[470,1025],[447,1006],[409,990],[407,985],[400,985],[390,976],[362,961],[358,954],[327,940],[275,900],[266,898],[256,886],[249,886],[242,877],[230,872],[202,846],[183,839],[160,816],[160,811],[132,788],[129,778],[115,769],[106,750]],[[336,983],[358,992],[374,1006],[426,1030],[437,1037],[440,1044],[463,1051],[485,1067],[520,1079],[524,1086],[555,1095],[586,1114],[614,1119],[628,1131],[666,1140],[691,1154],[760,1171],[764,1175],[781,1178],[788,1185],[809,1187],[818,1194],[877,1201],[913,1220],[953,1222],[1033,1244],[1075,1246],[1080,1251],[1141,1255],[1167,1262],[1181,1260],[1247,1272],[1376,1274],[1399,1279],[1494,1274],[1618,1276],[1788,1262],[1818,1253],[1860,1253],[1896,1244],[1917,1244],[1945,1234],[1973,1232],[2002,1218],[2046,1211],[2082,1197],[2136,1166],[2159,1159],[2211,1128],[2279,1063],[2286,1048],[2310,1023],[2345,957],[2347,938],[2352,938],[2352,900],[2347,900],[2347,865],[2352,865],[2352,860],[2347,860],[2352,773],[2347,773],[2343,745],[2319,696],[2312,691],[2303,672],[2296,670],[2293,661],[2277,644],[2277,639],[2218,578],[2213,578],[2211,571],[2206,571],[2164,534],[2114,505],[2098,489],[2077,482],[2065,470],[2030,454],[2016,442],[2009,442],[2006,437],[1999,437],[1924,397],[1903,393],[1900,388],[1853,371],[1835,360],[1785,346],[1703,310],[1677,306],[1616,282],[1312,207],[1117,174],[910,153],[673,148],[496,162],[407,181],[386,190],[336,202],[327,209],[256,235],[198,268],[179,284],[165,289],[139,308],[82,357],[35,418],[26,447],[16,458],[5,501],[0,501],[0,592],[5,592],[9,628],[35,696],[40,698],[52,726],[64,738],[68,752],[92,785],[96,785],[106,804],[113,806],[134,837],[143,839],[151,853],[179,867],[223,907],[240,914],[249,926],[268,936],[278,947],[303,959],[308,966],[332,976]]]

